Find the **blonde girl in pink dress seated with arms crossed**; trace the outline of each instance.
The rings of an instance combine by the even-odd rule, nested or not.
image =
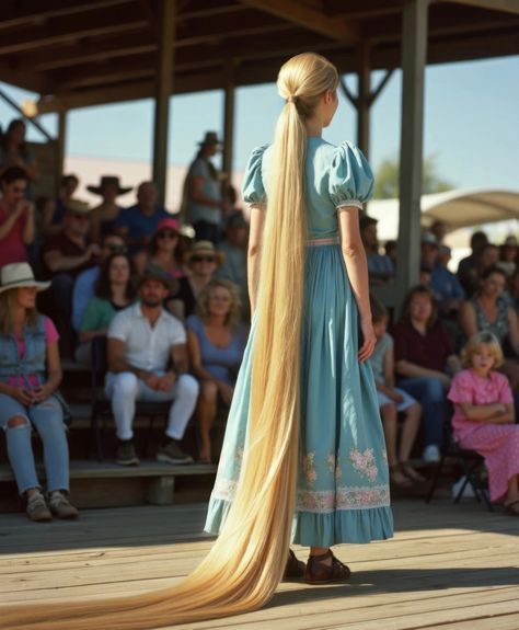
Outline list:
[[[519,425],[514,424],[514,398],[497,339],[474,334],[462,352],[466,369],[457,374],[449,391],[454,403],[452,428],[462,448],[485,458],[492,501],[503,501],[508,514],[519,516]]]

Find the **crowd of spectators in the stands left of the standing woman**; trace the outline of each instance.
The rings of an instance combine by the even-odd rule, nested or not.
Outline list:
[[[118,197],[130,187],[103,175],[86,186],[101,197],[91,207],[76,196],[79,177],[65,174],[56,198],[33,203],[38,169],[24,137],[23,122],[13,122],[0,142],[0,424],[27,515],[48,520],[77,516],[68,499],[61,364],[90,366],[95,340],[106,347],[119,465],[139,465],[138,401],[171,403],[159,461],[218,458],[210,429],[231,403],[249,328],[249,225],[210,160],[220,146],[215,133],[205,135],[186,176],[195,238],[183,214],[158,202],[153,182],[141,182],[125,208]],[[199,427],[194,457],[182,445],[192,417]],[[47,496],[30,423],[44,443]]]

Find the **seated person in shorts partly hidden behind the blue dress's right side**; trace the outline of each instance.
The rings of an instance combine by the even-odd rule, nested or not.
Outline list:
[[[390,479],[395,485],[408,488],[414,481],[425,481],[425,478],[408,461],[422,420],[422,408],[413,397],[394,386],[393,337],[387,332],[388,311],[385,307],[372,299],[371,313],[377,344],[369,363],[373,370],[380,415],[384,428]],[[399,412],[405,415],[400,448],[396,446]]]

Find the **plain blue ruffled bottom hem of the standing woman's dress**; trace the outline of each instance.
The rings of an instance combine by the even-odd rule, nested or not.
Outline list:
[[[231,504],[215,499],[209,502],[205,531],[218,535]],[[361,545],[393,537],[391,507],[339,509],[328,514],[297,512],[292,526],[292,542],[303,547]]]

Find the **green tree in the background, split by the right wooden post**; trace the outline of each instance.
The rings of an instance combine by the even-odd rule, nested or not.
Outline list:
[[[382,161],[374,174],[376,199],[395,199],[399,197],[399,172],[400,163],[396,158],[388,158]],[[425,158],[422,172],[422,193],[443,193],[455,186],[438,175],[436,156]]]

